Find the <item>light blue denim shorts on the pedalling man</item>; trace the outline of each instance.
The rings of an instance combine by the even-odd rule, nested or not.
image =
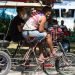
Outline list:
[[[23,34],[23,37],[24,38],[27,38],[27,37],[35,37],[35,38],[38,38],[39,40],[42,39],[42,38],[45,38],[47,36],[47,33],[46,32],[39,32],[37,30],[33,30],[33,31],[23,31],[22,32]]]

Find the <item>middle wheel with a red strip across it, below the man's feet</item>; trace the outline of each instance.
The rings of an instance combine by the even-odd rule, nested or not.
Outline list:
[[[55,70],[55,59],[51,58],[50,60],[42,64],[43,72],[46,75],[57,75],[58,72]]]

